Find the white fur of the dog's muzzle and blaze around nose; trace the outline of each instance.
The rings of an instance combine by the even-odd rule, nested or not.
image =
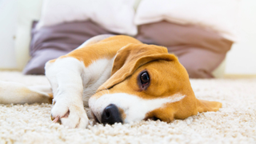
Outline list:
[[[154,98],[143,99],[137,95],[117,93],[117,94],[104,94],[99,98],[90,98],[89,106],[95,116],[101,121],[102,111],[106,106],[114,104],[126,114],[126,119],[123,122],[141,121],[145,118],[146,113],[164,107],[166,103],[178,102],[185,95],[174,94],[167,98]]]

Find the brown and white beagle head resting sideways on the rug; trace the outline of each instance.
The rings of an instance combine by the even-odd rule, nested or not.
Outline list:
[[[89,101],[98,122],[160,119],[171,122],[222,104],[198,100],[186,69],[165,47],[129,44],[118,51],[111,77]]]

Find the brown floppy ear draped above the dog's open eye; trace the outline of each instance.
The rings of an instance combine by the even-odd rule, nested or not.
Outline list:
[[[174,61],[178,58],[174,54],[168,54],[166,47],[162,46],[128,44],[122,47],[114,58],[111,77],[98,88],[98,91],[110,89],[133,74],[139,66],[155,60]]]

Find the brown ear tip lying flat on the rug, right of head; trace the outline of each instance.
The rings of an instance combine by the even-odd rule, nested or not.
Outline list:
[[[217,111],[222,107],[222,103],[197,99],[197,107],[199,113],[206,111]]]

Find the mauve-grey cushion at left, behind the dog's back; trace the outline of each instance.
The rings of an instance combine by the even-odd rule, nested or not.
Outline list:
[[[113,34],[94,22],[69,22],[36,30],[34,22],[30,42],[30,61],[23,74],[45,74],[47,61],[69,53],[98,34]]]

